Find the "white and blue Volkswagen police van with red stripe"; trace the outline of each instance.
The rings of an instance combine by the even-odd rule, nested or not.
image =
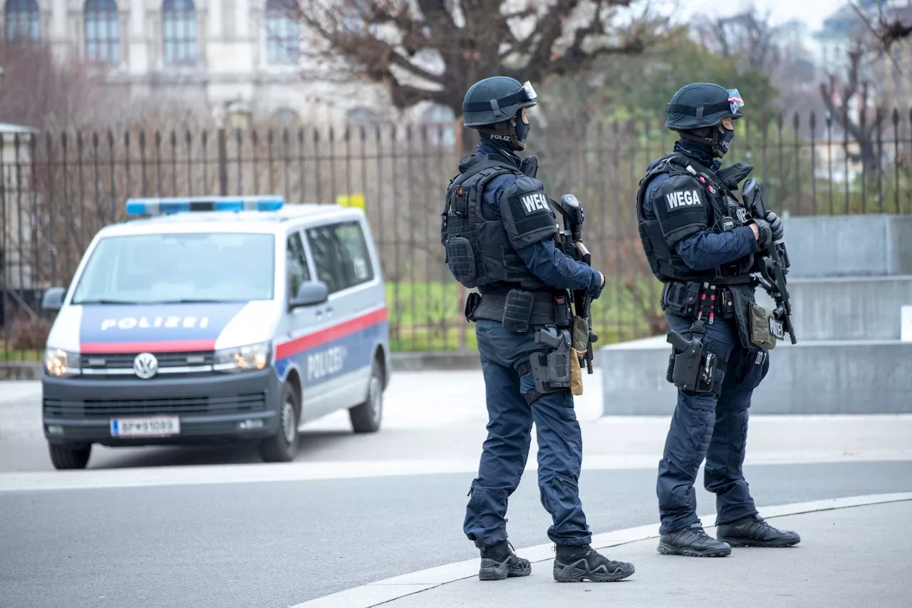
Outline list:
[[[93,444],[257,441],[294,459],[301,425],[347,410],[376,432],[389,383],[380,264],[356,208],[281,197],[130,199],[101,229],[47,338],[57,468]]]

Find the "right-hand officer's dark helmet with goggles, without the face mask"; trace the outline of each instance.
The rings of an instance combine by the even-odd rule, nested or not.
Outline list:
[[[665,126],[673,131],[714,127],[724,118],[740,119],[744,100],[738,89],[709,82],[692,82],[678,89],[665,111]]]

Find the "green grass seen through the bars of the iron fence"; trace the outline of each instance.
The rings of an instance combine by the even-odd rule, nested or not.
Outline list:
[[[626,284],[608,278],[592,305],[596,345],[657,334],[661,329],[654,323],[663,319],[657,286],[651,278],[629,279]],[[478,350],[475,326],[463,316],[455,281],[390,281],[386,287],[393,351]],[[0,362],[41,361],[43,356],[42,351],[14,351],[0,338]]]

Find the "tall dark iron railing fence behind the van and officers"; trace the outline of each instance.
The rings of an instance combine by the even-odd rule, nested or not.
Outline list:
[[[786,215],[912,212],[912,112],[876,111],[857,142],[809,116],[738,123],[726,162],[755,165]],[[0,148],[0,362],[39,356],[40,298],[66,286],[98,229],[125,220],[130,196],[282,194],[287,204],[362,204],[377,240],[393,348],[473,349],[464,290],[443,264],[440,210],[456,173],[459,125],[347,129],[5,134]],[[534,125],[529,153],[556,197],[586,208],[600,343],[664,330],[658,283],[636,229],[637,183],[674,134],[661,121]]]

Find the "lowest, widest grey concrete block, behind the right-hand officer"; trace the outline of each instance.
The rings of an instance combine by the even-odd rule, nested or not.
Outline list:
[[[665,336],[599,351],[605,415],[668,415],[677,389],[665,379]],[[912,413],[912,343],[780,342],[751,400],[754,414]]]

